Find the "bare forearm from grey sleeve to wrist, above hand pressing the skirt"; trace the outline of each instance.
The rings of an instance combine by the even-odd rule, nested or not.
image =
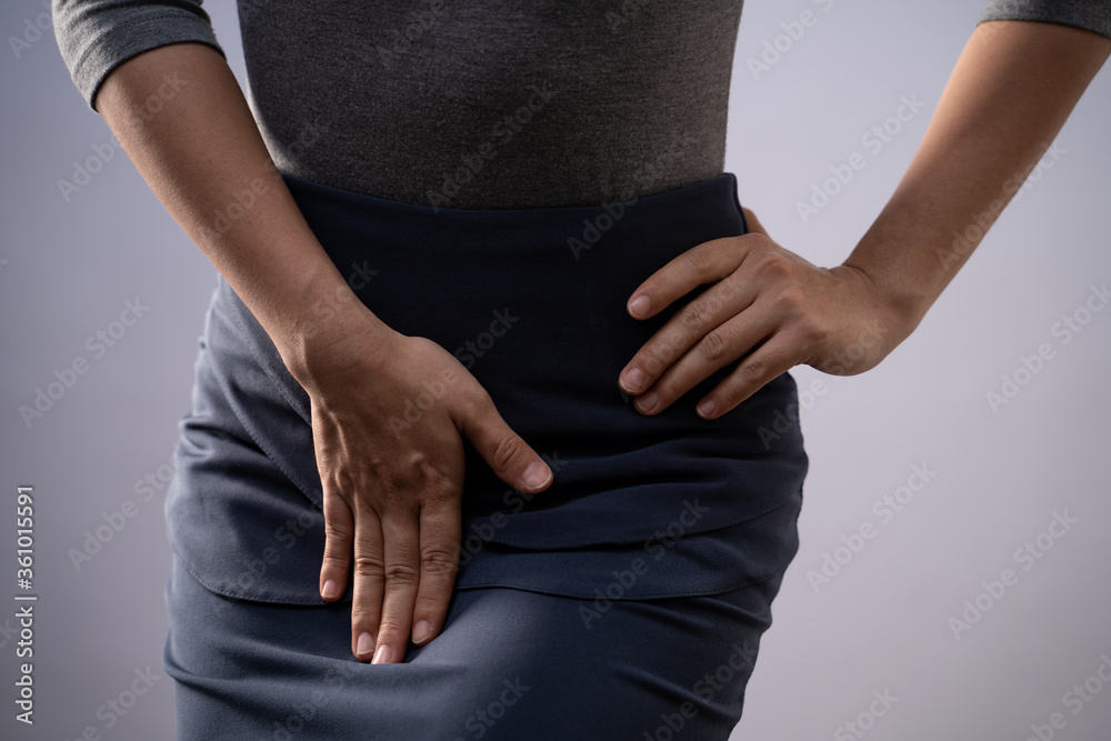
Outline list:
[[[159,96],[167,76],[177,78],[176,92]],[[162,104],[152,112],[146,101],[156,98]],[[216,50],[173,43],[137,54],[106,78],[94,104],[298,380],[309,377],[310,347],[344,332],[386,331],[306,223]],[[327,324],[318,321],[321,302],[331,309]]]

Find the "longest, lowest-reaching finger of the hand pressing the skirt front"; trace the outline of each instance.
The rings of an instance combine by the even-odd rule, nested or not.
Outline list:
[[[382,539],[386,544],[386,593],[374,648],[376,664],[398,663],[406,657],[420,580],[417,513],[400,505],[383,512]]]

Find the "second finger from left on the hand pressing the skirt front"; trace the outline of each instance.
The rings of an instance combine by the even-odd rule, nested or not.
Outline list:
[[[382,524],[370,508],[354,517],[354,587],[351,594],[351,653],[359,661],[374,655],[384,589]]]

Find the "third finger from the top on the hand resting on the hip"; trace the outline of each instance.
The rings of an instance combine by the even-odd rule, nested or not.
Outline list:
[[[752,352],[774,336],[779,321],[771,314],[758,314],[754,308],[731,317],[708,331],[660,379],[637,398],[637,409],[658,414],[677,399],[719,369]]]

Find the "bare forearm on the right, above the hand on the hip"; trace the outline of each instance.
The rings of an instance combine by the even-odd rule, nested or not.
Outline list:
[[[905,319],[907,333],[1043,157],[1109,53],[1111,39],[1053,23],[992,21],[972,33],[910,168],[844,261]]]

